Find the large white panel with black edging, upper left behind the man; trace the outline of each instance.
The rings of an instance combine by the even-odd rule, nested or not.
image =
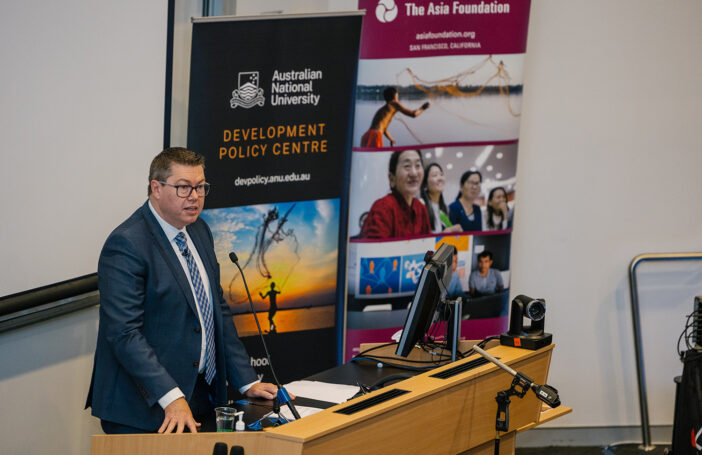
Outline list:
[[[0,296],[94,273],[163,144],[165,2],[0,7]]]

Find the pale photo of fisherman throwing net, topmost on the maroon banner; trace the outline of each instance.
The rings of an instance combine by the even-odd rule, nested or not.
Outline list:
[[[447,145],[518,138],[521,59],[483,55],[432,57],[420,62],[363,61],[361,66],[371,67],[364,70],[372,76],[358,83],[354,124],[358,142],[354,146]],[[397,90],[399,107],[383,113],[393,110],[386,107],[383,96],[388,87]],[[381,145],[364,145],[361,136],[370,129],[383,134]]]

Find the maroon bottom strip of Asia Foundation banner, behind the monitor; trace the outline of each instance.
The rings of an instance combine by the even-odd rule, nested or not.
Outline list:
[[[461,323],[461,339],[482,340],[489,336],[507,331],[508,320],[505,317],[473,319]],[[390,343],[392,336],[402,327],[389,327],[384,329],[354,330],[346,329],[346,352],[344,358],[349,361],[360,352],[361,343]],[[436,340],[442,341],[446,333],[446,322],[437,322],[430,333],[437,333]]]

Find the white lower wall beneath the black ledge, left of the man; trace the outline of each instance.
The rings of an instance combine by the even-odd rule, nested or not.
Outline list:
[[[0,335],[0,453],[89,454],[98,307]]]

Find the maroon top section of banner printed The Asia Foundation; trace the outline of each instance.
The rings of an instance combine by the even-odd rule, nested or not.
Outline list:
[[[361,59],[526,51],[529,0],[360,0]]]

